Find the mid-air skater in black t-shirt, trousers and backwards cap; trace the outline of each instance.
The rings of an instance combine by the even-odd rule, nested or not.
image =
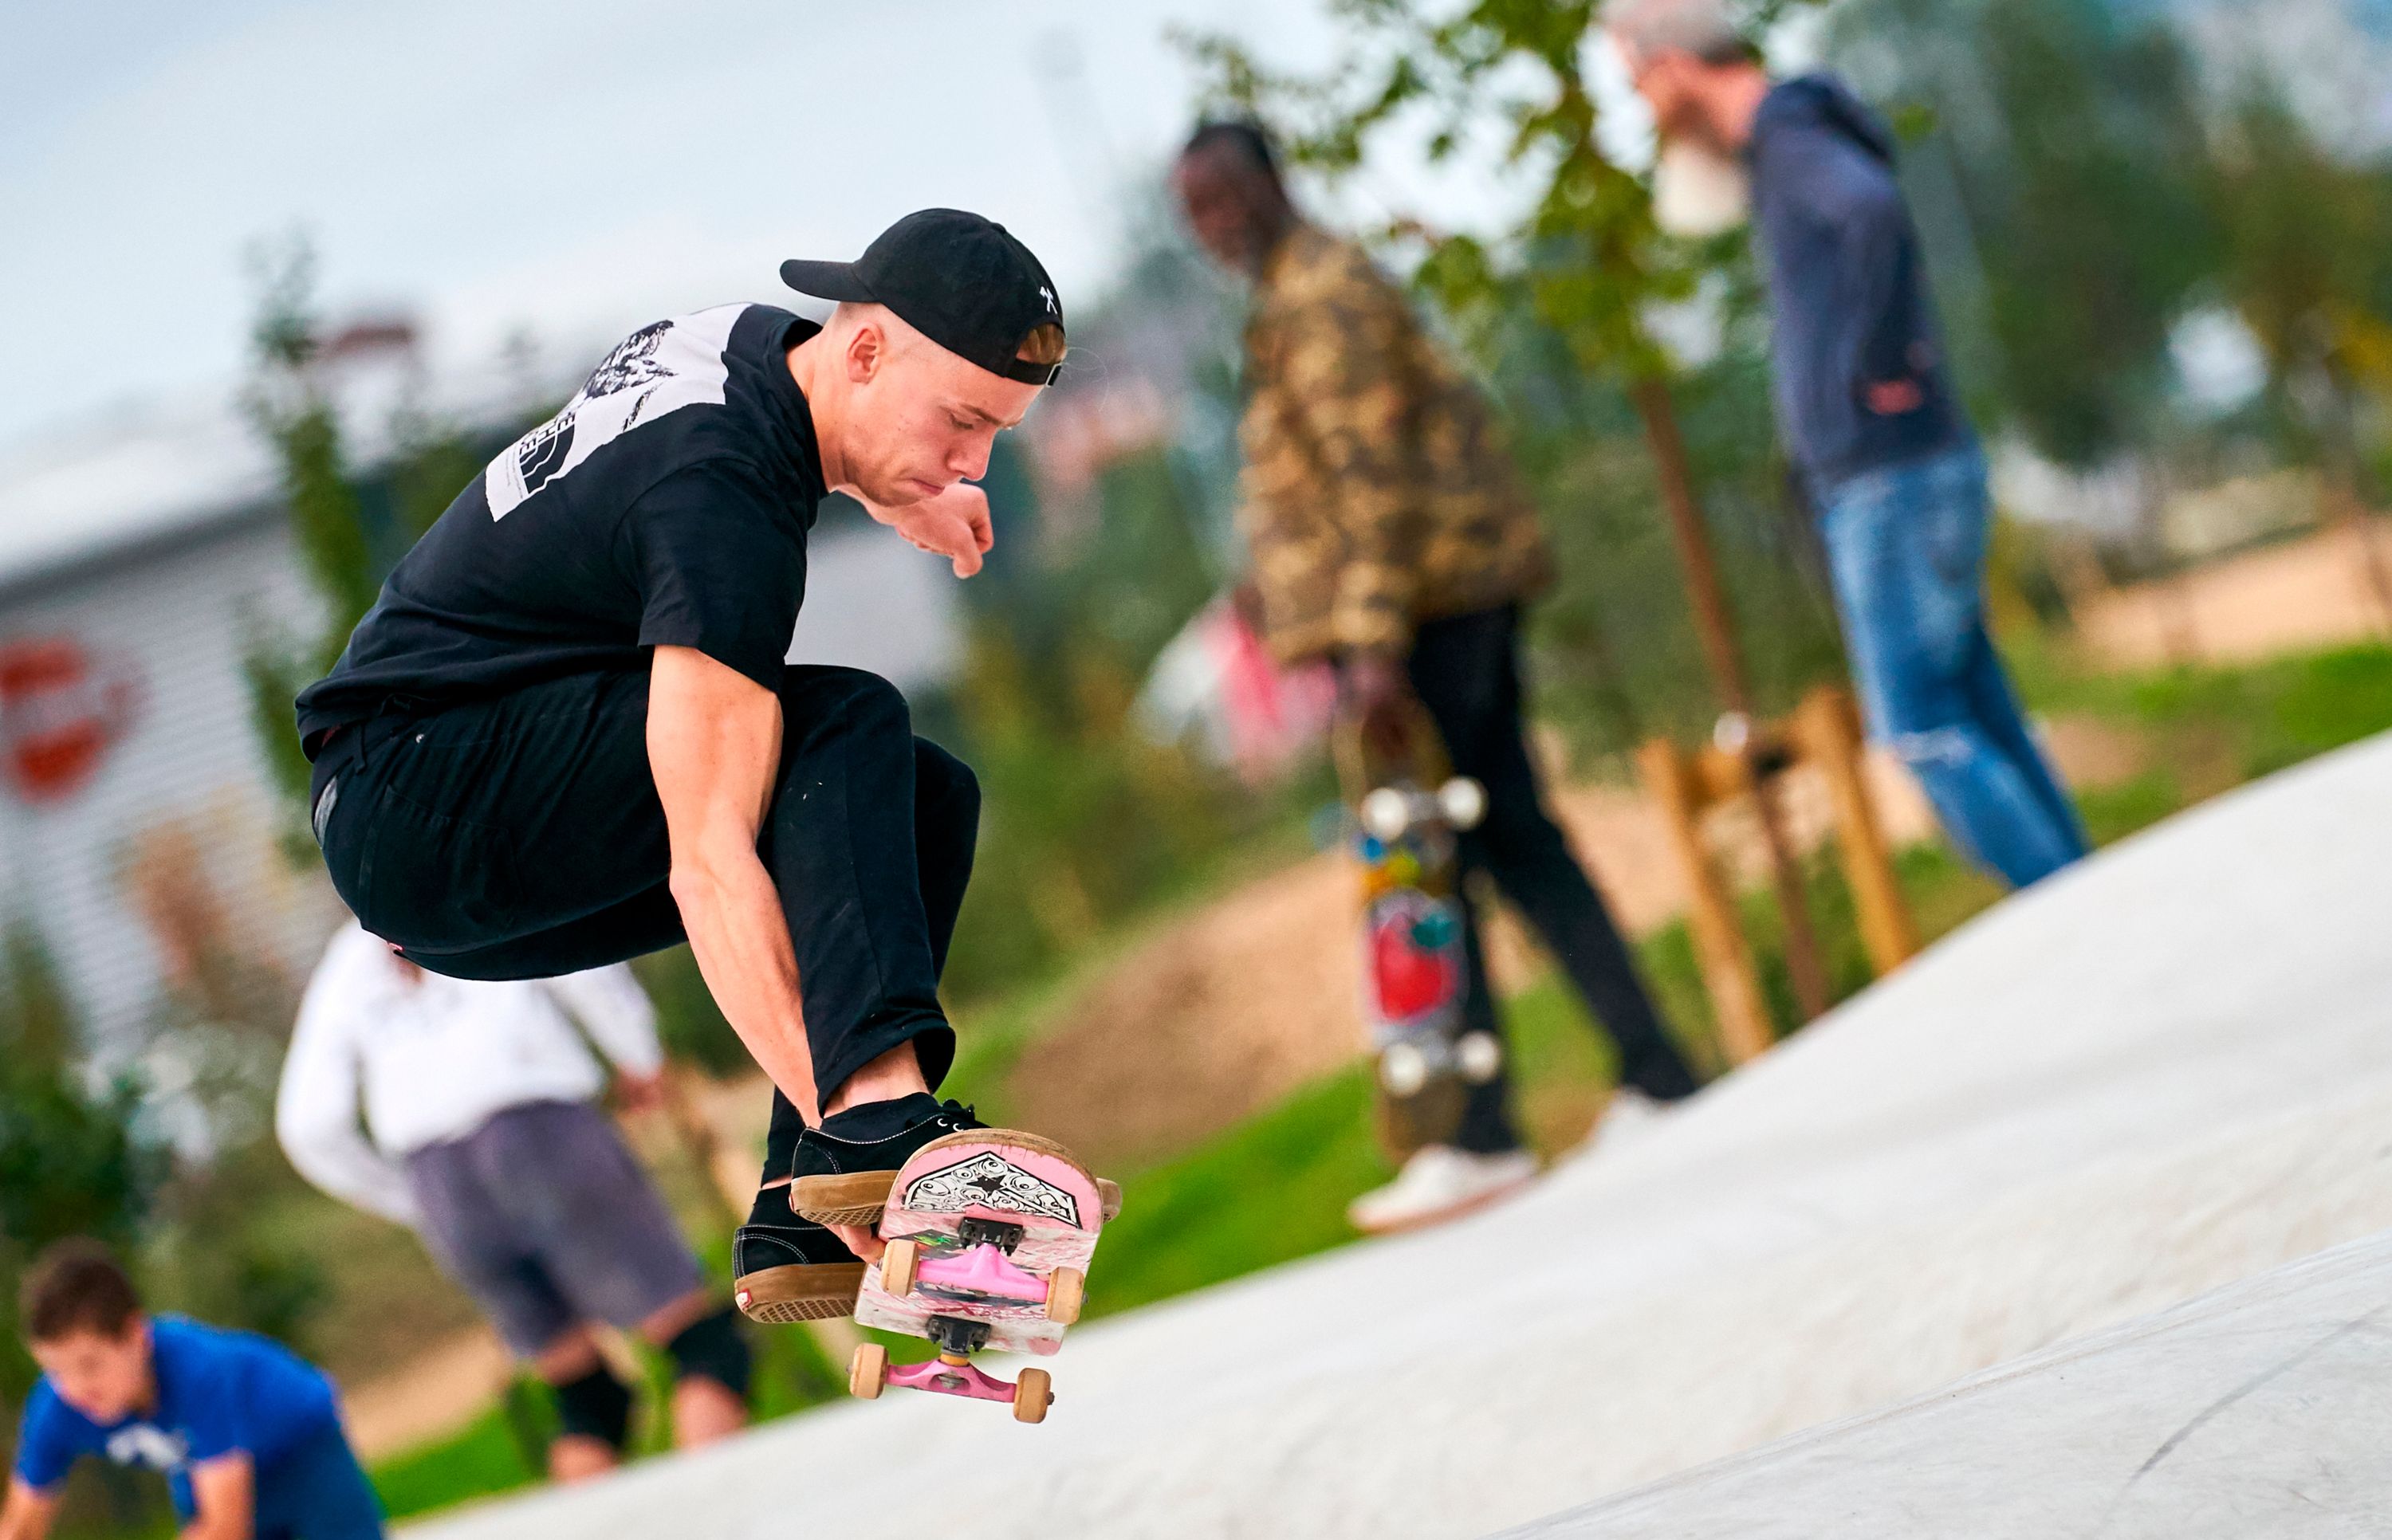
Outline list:
[[[978,572],[969,481],[1064,356],[1052,280],[981,215],[921,210],[782,280],[837,308],[631,332],[299,696],[332,885],[409,961],[550,978],[689,940],[777,1088],[734,1239],[742,1301],[777,1318],[847,1313],[880,1248],[792,1210],[792,1177],[978,1126],[933,1095],[978,784],[885,679],[785,662],[806,531],[842,490]]]

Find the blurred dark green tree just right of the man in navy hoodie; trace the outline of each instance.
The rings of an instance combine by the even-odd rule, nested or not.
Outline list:
[[[1909,129],[1942,275],[1981,289],[1978,414],[2069,466],[2146,440],[2220,261],[2182,41],[2100,0],[1859,0],[1832,43]]]

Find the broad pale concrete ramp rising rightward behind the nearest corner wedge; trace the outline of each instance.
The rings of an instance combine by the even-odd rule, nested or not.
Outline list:
[[[2378,739],[2019,894],[1500,1210],[1074,1332],[1043,1428],[892,1394],[421,1533],[1531,1523],[2392,1229],[2387,916]]]

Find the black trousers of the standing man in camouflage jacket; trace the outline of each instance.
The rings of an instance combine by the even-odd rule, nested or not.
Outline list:
[[[1545,813],[1536,763],[1521,734],[1519,612],[1481,610],[1423,624],[1411,643],[1409,672],[1411,689],[1445,737],[1454,772],[1476,777],[1488,789],[1485,820],[1462,837],[1464,873],[1483,870],[1495,878],[1495,887],[1545,940],[1619,1045],[1624,1086],[1660,1100],[1691,1093],[1694,1074],[1662,1031],[1603,894],[1586,880],[1562,830]],[[1464,1021],[1469,1028],[1497,1031],[1495,992],[1488,988],[1485,949],[1466,890],[1462,911],[1471,961]],[[1505,1078],[1471,1093],[1457,1136],[1464,1150],[1519,1148],[1505,1107],[1507,1093]]]

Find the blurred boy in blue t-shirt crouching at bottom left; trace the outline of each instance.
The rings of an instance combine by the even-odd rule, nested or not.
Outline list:
[[[50,1530],[84,1454],[163,1471],[182,1540],[380,1540],[380,1504],[316,1365],[251,1332],[144,1313],[96,1241],[48,1248],[19,1318],[41,1382],[0,1540]]]

